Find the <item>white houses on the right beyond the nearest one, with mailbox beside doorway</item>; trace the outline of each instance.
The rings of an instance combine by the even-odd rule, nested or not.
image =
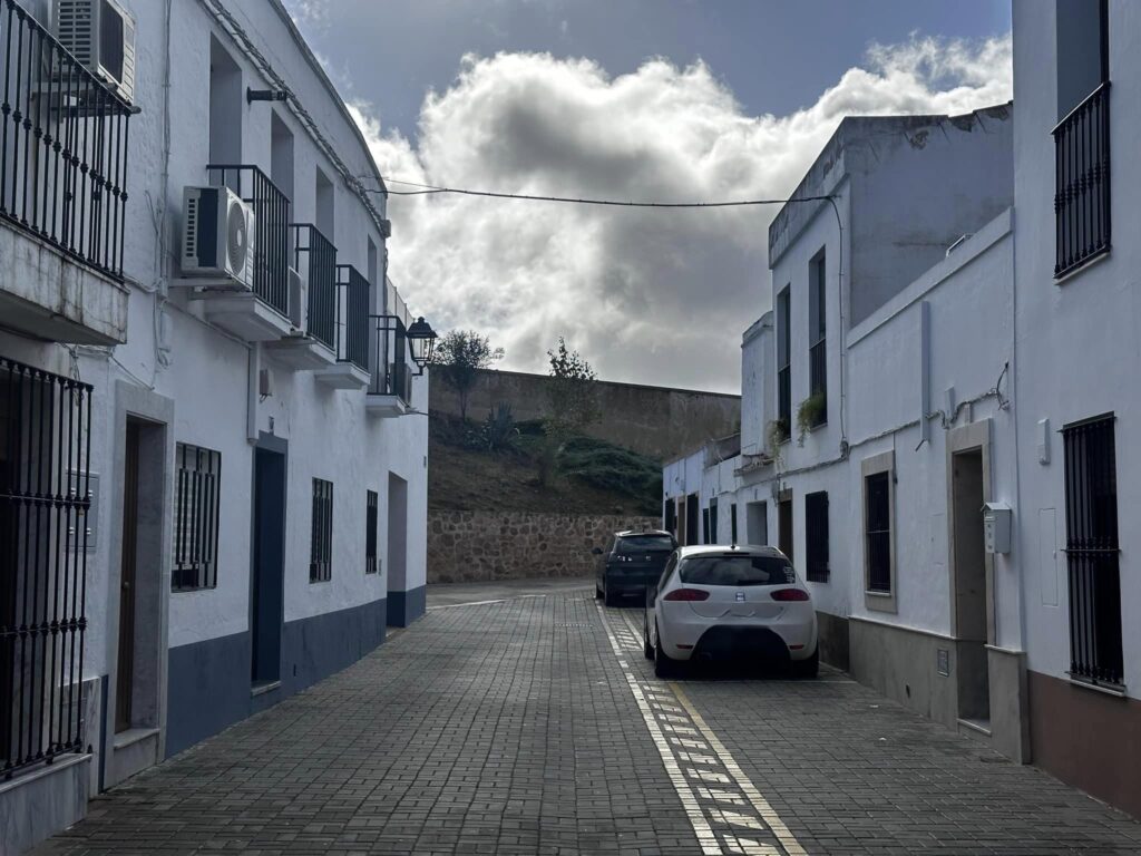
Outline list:
[[[696,494],[717,540],[793,558],[825,661],[1021,758],[1019,582],[982,542],[982,504],[1015,493],[1011,126],[1009,105],[841,123],[794,194],[831,201],[769,231],[739,457],[664,476],[667,522]]]

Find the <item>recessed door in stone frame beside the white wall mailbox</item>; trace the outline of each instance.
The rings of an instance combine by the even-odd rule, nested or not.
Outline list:
[[[982,451],[952,458],[952,512],[957,645],[958,718],[990,720],[987,664],[987,557],[982,538]]]

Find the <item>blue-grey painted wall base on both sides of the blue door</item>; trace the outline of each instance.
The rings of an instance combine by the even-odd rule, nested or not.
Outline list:
[[[385,641],[386,599],[288,621],[281,687],[250,694],[250,632],[169,653],[167,758],[351,665]]]

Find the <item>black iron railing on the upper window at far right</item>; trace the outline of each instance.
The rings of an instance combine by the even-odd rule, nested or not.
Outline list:
[[[1109,82],[1053,130],[1054,277],[1109,250]]]

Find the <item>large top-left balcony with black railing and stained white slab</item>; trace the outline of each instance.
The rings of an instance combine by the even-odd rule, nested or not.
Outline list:
[[[130,104],[0,0],[0,317],[51,341],[127,341]]]

